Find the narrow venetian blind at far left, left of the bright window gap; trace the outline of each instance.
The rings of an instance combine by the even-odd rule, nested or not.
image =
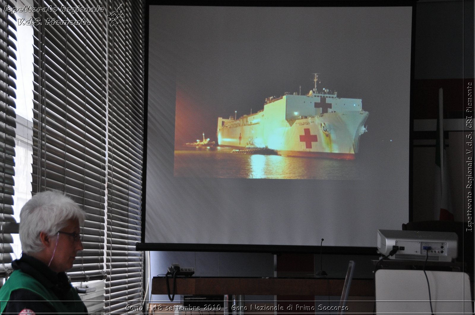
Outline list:
[[[9,0],[0,0],[0,277],[6,277],[11,271],[10,262],[13,249],[11,233],[18,233],[18,225],[13,217],[13,176],[15,166],[15,99],[17,60],[15,42],[15,16],[5,12],[5,6],[14,6]]]

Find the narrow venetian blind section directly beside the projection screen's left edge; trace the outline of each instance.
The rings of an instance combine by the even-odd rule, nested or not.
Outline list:
[[[144,6],[142,1],[109,1],[125,23],[108,28],[108,183],[106,313],[141,306],[141,239],[144,100]]]

